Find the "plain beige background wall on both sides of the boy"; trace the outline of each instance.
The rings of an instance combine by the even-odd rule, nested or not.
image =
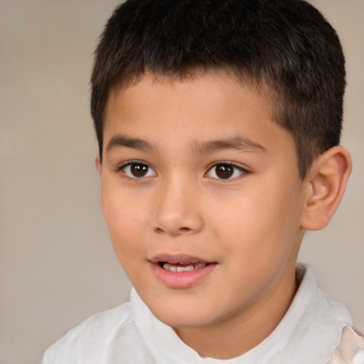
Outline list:
[[[126,301],[99,203],[89,74],[115,0],[0,0],[0,364],[39,363],[91,314]],[[364,1],[316,0],[342,38],[343,145],[354,169],[338,213],[301,260],[364,330]]]

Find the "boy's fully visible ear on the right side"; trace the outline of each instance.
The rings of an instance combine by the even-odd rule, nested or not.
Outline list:
[[[320,230],[330,221],[343,197],[351,172],[351,158],[343,146],[334,146],[314,161],[306,175],[307,195],[301,228]]]

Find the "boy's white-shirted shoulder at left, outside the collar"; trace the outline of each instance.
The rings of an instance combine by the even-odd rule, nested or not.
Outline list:
[[[141,346],[127,303],[95,314],[68,331],[45,351],[42,363],[112,363],[111,359],[122,351],[139,350]]]

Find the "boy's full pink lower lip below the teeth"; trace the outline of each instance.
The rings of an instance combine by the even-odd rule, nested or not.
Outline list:
[[[197,268],[188,272],[170,272],[163,269],[159,264],[151,263],[151,267],[157,279],[169,288],[189,288],[208,276],[217,264],[210,263],[203,268]]]

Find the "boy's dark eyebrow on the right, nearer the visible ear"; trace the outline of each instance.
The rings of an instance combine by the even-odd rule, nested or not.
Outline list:
[[[252,141],[246,137],[231,137],[228,139],[217,139],[213,141],[198,142],[193,143],[194,151],[204,154],[213,151],[220,151],[223,149],[237,149],[239,151],[261,151],[266,153],[267,149],[261,144]]]

